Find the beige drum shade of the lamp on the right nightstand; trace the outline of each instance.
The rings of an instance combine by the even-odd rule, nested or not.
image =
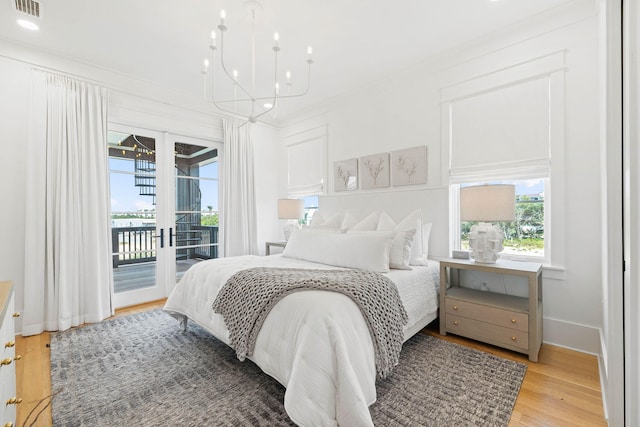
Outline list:
[[[460,189],[462,221],[497,222],[515,220],[514,185],[478,185]]]

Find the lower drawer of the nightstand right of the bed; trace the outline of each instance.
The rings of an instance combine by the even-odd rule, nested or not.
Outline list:
[[[526,332],[447,313],[447,332],[506,348],[528,350]]]

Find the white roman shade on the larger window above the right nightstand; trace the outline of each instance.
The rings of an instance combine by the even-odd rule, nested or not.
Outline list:
[[[539,78],[451,104],[453,183],[549,174],[549,84]],[[491,170],[502,176],[487,177]]]

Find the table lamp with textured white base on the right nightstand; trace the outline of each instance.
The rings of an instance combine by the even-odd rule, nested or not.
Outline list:
[[[460,189],[460,219],[479,221],[469,232],[471,258],[493,264],[504,249],[504,233],[489,222],[515,220],[515,186],[478,185]]]

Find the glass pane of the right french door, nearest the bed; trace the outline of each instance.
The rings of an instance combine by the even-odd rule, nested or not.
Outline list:
[[[191,265],[218,257],[218,150],[176,142],[176,281]]]

